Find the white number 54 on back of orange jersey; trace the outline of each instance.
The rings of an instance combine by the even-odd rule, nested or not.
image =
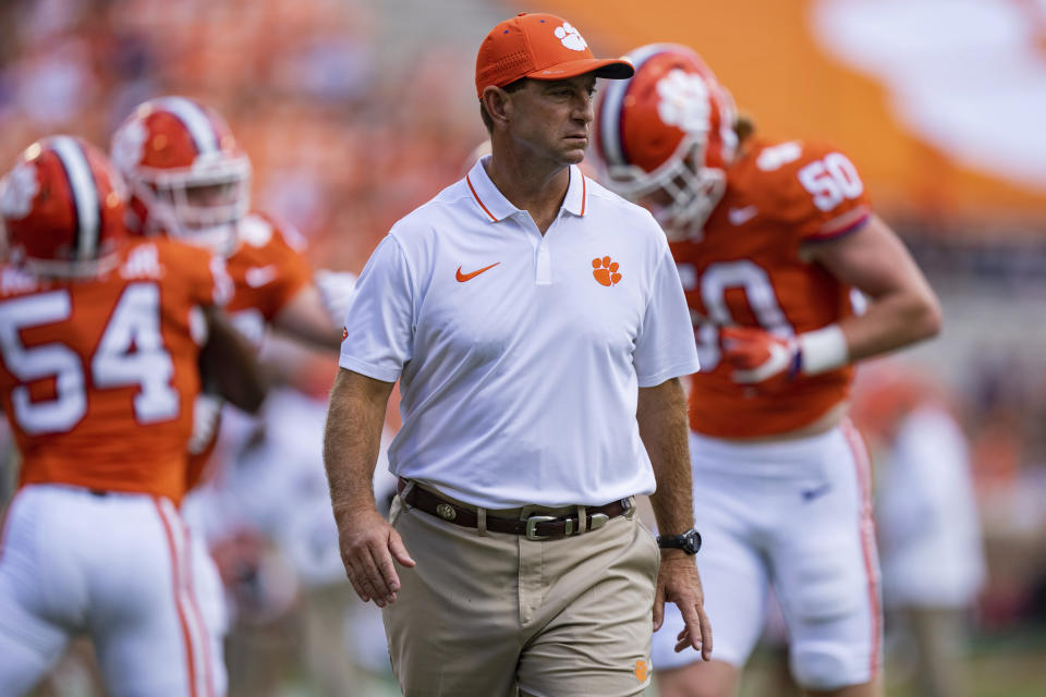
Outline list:
[[[63,321],[72,315],[69,291],[10,299],[0,305],[0,352],[11,374],[23,383],[51,378],[56,396],[33,401],[26,384],[11,393],[14,418],[26,433],[60,433],[87,413],[87,391],[80,356],[61,343],[26,347],[22,330]],[[179,413],[171,387],[174,364],[160,335],[160,291],[155,283],[131,283],[90,358],[97,388],[138,386],[134,416],[139,424],[171,419]]]

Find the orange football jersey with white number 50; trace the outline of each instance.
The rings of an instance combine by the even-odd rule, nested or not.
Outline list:
[[[801,247],[856,231],[869,215],[856,170],[830,147],[755,139],[730,167],[703,236],[670,245],[701,356],[691,428],[716,438],[769,437],[810,425],[847,399],[850,367],[798,376],[774,393],[733,382],[721,364],[719,328],[788,337],[850,315],[851,289],[805,260]]]

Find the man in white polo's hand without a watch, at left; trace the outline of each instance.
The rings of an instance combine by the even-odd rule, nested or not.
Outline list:
[[[349,583],[364,602],[396,602],[400,577],[392,561],[414,566],[403,540],[376,509],[360,506],[338,521],[338,547]]]

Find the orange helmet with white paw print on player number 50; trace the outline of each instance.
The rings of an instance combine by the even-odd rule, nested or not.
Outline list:
[[[733,98],[685,46],[652,44],[625,58],[635,75],[610,81],[596,105],[601,179],[646,205],[669,236],[700,232],[738,147]]]

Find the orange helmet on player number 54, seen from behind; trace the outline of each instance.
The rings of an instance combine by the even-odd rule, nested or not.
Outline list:
[[[8,256],[27,271],[83,278],[115,262],[126,191],[109,159],[68,135],[38,140],[0,180]]]

